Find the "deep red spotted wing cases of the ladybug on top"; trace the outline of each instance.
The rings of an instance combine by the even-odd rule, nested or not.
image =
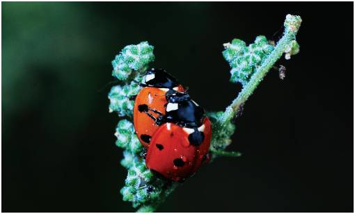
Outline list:
[[[210,161],[208,153],[212,138],[210,119],[205,117],[203,125],[199,128],[205,138],[200,145],[195,146],[190,144],[186,128],[170,122],[159,126],[152,136],[145,158],[148,169],[173,181],[184,181],[194,174],[202,163]]]

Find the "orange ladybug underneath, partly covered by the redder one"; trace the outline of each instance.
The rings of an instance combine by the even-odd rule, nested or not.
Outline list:
[[[164,69],[150,69],[145,73],[143,88],[134,99],[133,121],[134,130],[141,144],[147,148],[152,135],[159,128],[156,118],[164,117],[166,113],[166,92],[184,92],[182,85]]]

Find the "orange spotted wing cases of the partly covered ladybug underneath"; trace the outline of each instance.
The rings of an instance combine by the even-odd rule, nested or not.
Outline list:
[[[175,88],[178,92],[184,92],[182,85],[178,85]],[[166,113],[166,97],[165,94],[168,88],[154,88],[154,87],[144,87],[142,88],[134,100],[133,108],[133,121],[134,130],[139,138],[139,141],[143,147],[148,148],[149,142],[152,139],[155,131],[159,128],[155,121],[150,118],[147,113],[139,111],[140,105],[146,105],[151,109],[158,110],[163,115]],[[157,118],[159,114],[149,110],[153,117]]]

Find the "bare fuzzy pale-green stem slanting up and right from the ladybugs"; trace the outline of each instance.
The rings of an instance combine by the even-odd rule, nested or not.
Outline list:
[[[259,83],[262,81],[264,76],[269,72],[269,69],[276,63],[276,61],[281,58],[283,53],[287,48],[290,47],[292,40],[296,38],[297,31],[301,25],[301,17],[294,15],[287,15],[285,19],[285,32],[283,37],[278,41],[274,50],[265,58],[262,65],[256,69],[255,74],[251,76],[250,81],[244,85],[242,91],[238,94],[238,97],[232,101],[232,104],[226,108],[219,120],[219,126],[225,126],[230,120],[232,120],[235,115],[237,115],[237,110],[239,106],[244,104],[244,102],[253,94],[254,90],[258,87]]]

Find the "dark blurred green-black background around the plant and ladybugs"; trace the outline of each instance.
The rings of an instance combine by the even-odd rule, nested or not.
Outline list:
[[[111,60],[148,40],[154,67],[223,110],[222,44],[301,15],[301,52],[246,102],[230,150],[168,197],[166,212],[353,211],[353,3],[2,3],[2,211],[134,211],[109,113]]]

